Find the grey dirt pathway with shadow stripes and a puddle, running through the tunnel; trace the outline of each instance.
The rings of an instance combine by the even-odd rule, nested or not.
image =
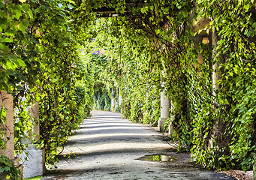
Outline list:
[[[161,133],[120,118],[119,113],[93,111],[68,138],[54,173],[43,179],[234,179],[190,163],[189,154],[177,154]],[[142,160],[147,155],[155,160]],[[147,159],[147,158],[145,158]]]

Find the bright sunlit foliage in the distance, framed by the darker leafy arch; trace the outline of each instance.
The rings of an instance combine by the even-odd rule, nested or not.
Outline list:
[[[110,98],[119,102],[121,95],[125,117],[155,125],[160,113],[159,86],[149,82],[154,81],[153,77],[158,76],[159,71],[153,75],[147,69],[153,58],[148,53],[152,50],[149,38],[143,36],[143,31],[137,31],[136,35],[128,27],[118,27],[118,22],[112,19],[96,20],[89,33],[94,35],[94,40],[88,42],[87,48],[97,46],[102,51],[93,55],[100,58],[92,58],[92,67],[99,72],[95,77],[98,80],[95,83],[95,109],[107,110]],[[160,85],[158,81],[157,84]],[[99,87],[104,92],[99,91]],[[119,104],[115,106],[118,111]]]

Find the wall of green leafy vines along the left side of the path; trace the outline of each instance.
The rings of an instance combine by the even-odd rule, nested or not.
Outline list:
[[[0,89],[14,96],[15,149],[26,149],[24,139],[32,135],[33,124],[27,110],[38,101],[41,136],[35,144],[45,148],[49,164],[91,110],[93,93],[79,58],[83,28],[73,20],[82,6],[74,1],[0,2]],[[5,109],[3,123],[4,115]]]

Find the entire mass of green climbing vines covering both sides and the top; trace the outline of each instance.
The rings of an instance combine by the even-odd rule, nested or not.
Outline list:
[[[205,167],[252,168],[255,1],[13,0],[0,8],[0,89],[19,109],[17,150],[32,129],[26,107],[35,101],[37,143],[54,163],[92,101],[110,110],[121,94],[125,117],[155,125],[165,89],[179,150]]]

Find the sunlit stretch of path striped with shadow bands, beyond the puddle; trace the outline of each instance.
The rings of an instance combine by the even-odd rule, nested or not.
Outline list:
[[[62,154],[93,155],[170,148],[167,143],[155,139],[159,134],[146,125],[132,123],[125,118],[94,117],[84,120],[77,134],[68,137]]]

